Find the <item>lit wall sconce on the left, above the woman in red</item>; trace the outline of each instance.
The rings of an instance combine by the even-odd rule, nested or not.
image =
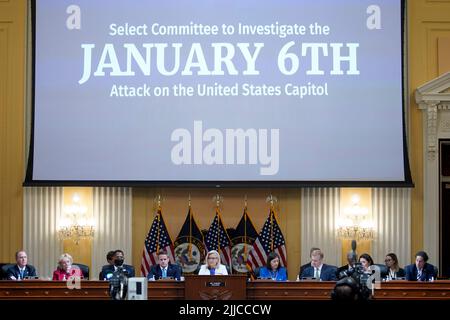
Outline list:
[[[65,218],[60,221],[58,235],[61,240],[72,239],[79,244],[81,239],[89,239],[94,236],[94,220],[87,219],[87,208],[80,204],[80,196],[74,194],[72,205],[65,206]]]

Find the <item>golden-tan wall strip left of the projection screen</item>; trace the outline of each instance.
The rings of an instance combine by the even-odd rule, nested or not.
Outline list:
[[[0,1],[0,262],[22,246],[26,0]]]

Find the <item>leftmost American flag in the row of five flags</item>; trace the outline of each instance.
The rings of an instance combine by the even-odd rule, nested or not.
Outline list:
[[[167,251],[170,262],[174,263],[175,253],[172,240],[164,223],[161,209],[158,209],[144,242],[141,262],[141,273],[143,276],[146,277],[152,265],[158,263],[158,251],[161,249]]]

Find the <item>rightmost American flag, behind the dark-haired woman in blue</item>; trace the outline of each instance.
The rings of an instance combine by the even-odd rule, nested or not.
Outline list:
[[[270,214],[267,218],[261,232],[253,243],[252,250],[250,251],[247,259],[247,266],[249,270],[254,271],[256,268],[266,265],[267,255],[275,251],[280,256],[280,263],[282,266],[286,266],[286,242],[284,241],[283,234],[281,233],[280,226],[278,225],[277,218],[273,208],[270,208]]]

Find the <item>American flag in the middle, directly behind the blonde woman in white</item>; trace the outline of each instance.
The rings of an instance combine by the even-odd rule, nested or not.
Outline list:
[[[223,226],[220,212],[217,208],[216,216],[205,236],[205,247],[207,251],[217,250],[220,253],[222,264],[231,265],[231,240]]]

